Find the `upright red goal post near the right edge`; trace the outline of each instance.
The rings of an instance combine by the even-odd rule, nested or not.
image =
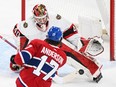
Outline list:
[[[110,0],[110,60],[116,60],[115,0]]]

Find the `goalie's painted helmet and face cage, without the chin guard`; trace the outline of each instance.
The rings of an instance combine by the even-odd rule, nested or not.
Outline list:
[[[33,17],[38,24],[46,24],[49,20],[46,6],[43,4],[37,4],[33,8]]]

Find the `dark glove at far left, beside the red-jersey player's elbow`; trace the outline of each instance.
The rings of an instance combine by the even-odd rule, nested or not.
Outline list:
[[[21,69],[21,66],[15,63],[14,58],[15,55],[12,55],[10,58],[10,68],[12,71],[19,71]]]

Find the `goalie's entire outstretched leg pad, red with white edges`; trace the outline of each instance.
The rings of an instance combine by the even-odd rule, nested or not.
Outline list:
[[[93,80],[93,77],[97,78],[101,73],[100,70],[102,65],[99,64],[95,58],[77,52],[64,43],[62,43],[61,49],[66,52],[67,56],[69,56],[67,63],[77,70],[83,69],[90,79]]]

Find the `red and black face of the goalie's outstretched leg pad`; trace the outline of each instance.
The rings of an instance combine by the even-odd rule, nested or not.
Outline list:
[[[64,46],[61,49],[66,52],[67,56],[70,56],[77,63],[80,63],[83,67],[86,67],[87,69],[89,69],[92,75],[96,72],[96,70],[98,70],[99,66],[95,63],[95,61],[91,60],[89,57],[87,57],[79,52],[72,50],[65,44],[63,44],[63,45]]]

